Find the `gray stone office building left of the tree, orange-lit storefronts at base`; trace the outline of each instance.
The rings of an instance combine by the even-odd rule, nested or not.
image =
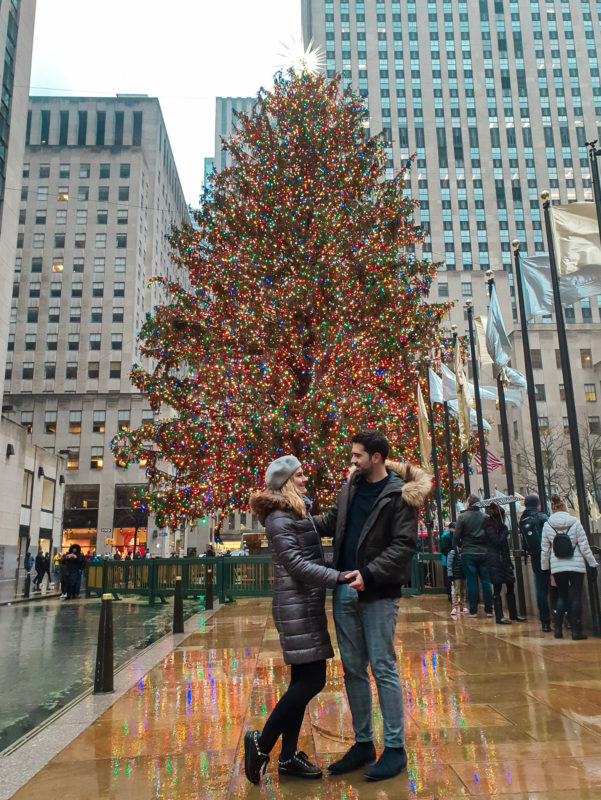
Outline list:
[[[166,538],[132,509],[144,465],[109,442],[152,419],[130,384],[137,334],[175,279],[166,239],[188,220],[158,101],[30,98],[5,399],[33,441],[67,459],[63,545],[99,552]],[[159,547],[157,547],[159,545]]]

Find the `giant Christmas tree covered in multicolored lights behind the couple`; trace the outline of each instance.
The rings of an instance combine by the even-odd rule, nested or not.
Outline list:
[[[113,442],[121,466],[146,463],[159,524],[244,508],[284,453],[326,503],[365,427],[418,458],[414,361],[441,347],[447,307],[427,302],[417,204],[365,122],[339,79],[279,74],[238,115],[196,225],[172,233],[182,280],[156,279],[172,302],[141,331],[153,368],[131,373],[170,416]]]

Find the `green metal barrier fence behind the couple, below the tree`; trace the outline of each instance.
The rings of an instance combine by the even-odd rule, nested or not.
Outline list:
[[[110,592],[115,600],[127,595],[148,597],[150,605],[165,603],[181,577],[183,597],[204,598],[207,585],[220,603],[238,597],[271,597],[273,564],[270,555],[219,558],[149,558],[100,561],[88,567],[86,597]],[[442,556],[416,553],[411,562],[411,586],[403,594],[443,594]]]

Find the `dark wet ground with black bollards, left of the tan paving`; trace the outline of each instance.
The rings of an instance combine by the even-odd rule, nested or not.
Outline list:
[[[199,604],[185,601],[185,615]],[[0,751],[94,682],[100,601],[41,599],[0,607]],[[114,663],[171,629],[173,606],[113,602]]]

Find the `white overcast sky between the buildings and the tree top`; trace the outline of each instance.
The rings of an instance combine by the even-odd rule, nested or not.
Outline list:
[[[186,200],[214,150],[215,98],[254,96],[300,41],[300,0],[37,0],[31,94],[158,97]]]

